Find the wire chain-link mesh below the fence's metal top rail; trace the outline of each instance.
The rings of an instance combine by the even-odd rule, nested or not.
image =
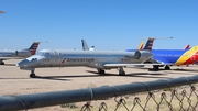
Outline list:
[[[69,111],[197,111],[197,104],[196,85],[189,85],[62,107]]]

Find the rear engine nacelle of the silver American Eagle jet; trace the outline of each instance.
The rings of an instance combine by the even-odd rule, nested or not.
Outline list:
[[[134,58],[136,59],[147,60],[152,57],[153,57],[153,54],[148,51],[136,51],[134,53]]]

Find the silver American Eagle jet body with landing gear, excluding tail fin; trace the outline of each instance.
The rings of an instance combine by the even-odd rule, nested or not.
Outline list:
[[[35,68],[86,66],[97,68],[99,74],[106,69],[117,68],[119,75],[125,75],[123,67],[141,65],[152,58],[147,51],[116,52],[116,51],[66,51],[42,49],[16,64],[20,69],[31,70],[30,77],[34,78]]]

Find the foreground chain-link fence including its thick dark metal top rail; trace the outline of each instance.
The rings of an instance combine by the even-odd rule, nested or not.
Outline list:
[[[196,111],[198,76],[0,97],[0,111],[62,104],[69,111]],[[97,100],[97,101],[96,101]],[[82,101],[87,101],[85,104]]]

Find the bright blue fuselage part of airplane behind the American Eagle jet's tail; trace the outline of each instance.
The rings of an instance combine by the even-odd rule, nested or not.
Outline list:
[[[134,52],[136,49],[127,49],[127,52]],[[175,64],[180,56],[188,49],[152,49],[153,58],[163,62],[164,64]]]

